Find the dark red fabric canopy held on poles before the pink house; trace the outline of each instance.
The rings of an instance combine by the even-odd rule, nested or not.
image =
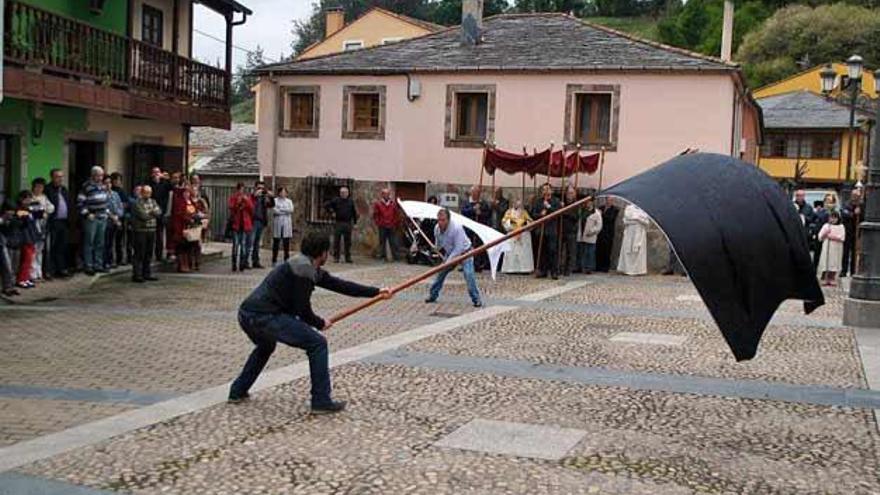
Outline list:
[[[565,164],[563,166],[563,156]],[[518,154],[499,149],[487,149],[483,167],[489,175],[501,170],[507,174],[526,173],[529,176],[547,175],[550,177],[569,177],[575,172],[594,174],[599,169],[599,154],[581,156],[578,152],[564,155],[562,150],[551,153],[550,149],[534,154]]]

